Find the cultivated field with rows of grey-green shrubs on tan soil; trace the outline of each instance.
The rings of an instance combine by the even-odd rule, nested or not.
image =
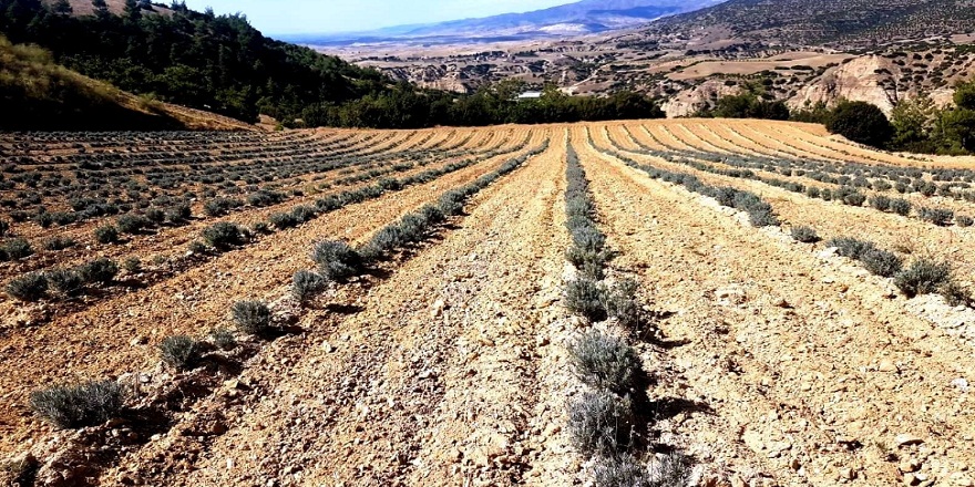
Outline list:
[[[0,166],[0,483],[975,485],[971,159],[678,120]]]

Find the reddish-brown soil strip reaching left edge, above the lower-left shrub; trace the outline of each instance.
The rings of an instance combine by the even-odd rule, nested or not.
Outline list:
[[[530,146],[540,143],[536,136]],[[145,369],[156,361],[155,345],[164,336],[205,334],[211,328],[228,325],[228,310],[235,301],[277,298],[291,274],[308,267],[314,241],[362,239],[509,158],[489,159],[428,184],[348,206],[44,327],[7,330],[0,349],[0,452],[10,453],[50,431],[27,410],[30,391],[75,377],[113,377]]]

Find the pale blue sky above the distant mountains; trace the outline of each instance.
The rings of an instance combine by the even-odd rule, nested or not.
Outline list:
[[[265,34],[327,33],[527,12],[573,0],[186,0],[194,10],[247,14]]]

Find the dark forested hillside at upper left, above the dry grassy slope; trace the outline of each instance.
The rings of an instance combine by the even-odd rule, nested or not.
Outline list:
[[[268,39],[243,15],[181,3],[119,11],[113,2],[93,15],[83,0],[74,7],[55,12],[40,0],[0,0],[0,34],[121,90],[247,122],[258,113],[291,121],[308,106],[389,90],[379,73]]]

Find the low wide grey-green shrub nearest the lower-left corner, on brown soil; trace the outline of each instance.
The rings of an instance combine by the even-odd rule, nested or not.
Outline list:
[[[34,414],[64,429],[96,426],[122,411],[122,386],[113,381],[60,385],[31,393]]]

